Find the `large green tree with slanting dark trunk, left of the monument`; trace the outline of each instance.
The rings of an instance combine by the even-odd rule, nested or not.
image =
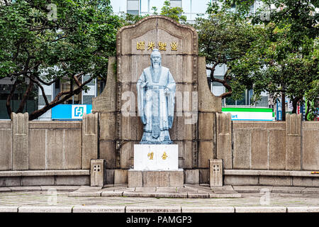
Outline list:
[[[94,78],[105,77],[119,27],[109,0],[4,1],[0,5],[0,78],[14,82],[6,101],[9,116],[18,87],[27,89],[16,113],[23,111],[33,87],[42,91],[45,106],[30,113],[33,120],[86,91]],[[59,81],[69,81],[70,89],[48,100],[43,84]]]

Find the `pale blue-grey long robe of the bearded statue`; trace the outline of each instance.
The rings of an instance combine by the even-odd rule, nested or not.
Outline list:
[[[140,85],[147,82],[145,87]],[[152,66],[143,70],[138,79],[138,114],[144,124],[140,143],[172,143],[169,128],[174,118],[174,97],[176,83],[167,67],[159,67],[155,74]],[[164,94],[164,89],[169,94]]]

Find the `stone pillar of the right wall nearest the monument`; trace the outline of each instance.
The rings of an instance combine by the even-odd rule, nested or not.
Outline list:
[[[217,158],[223,160],[225,169],[233,168],[231,114],[216,114]]]

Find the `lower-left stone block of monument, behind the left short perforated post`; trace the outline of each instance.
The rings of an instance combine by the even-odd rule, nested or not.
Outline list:
[[[106,160],[108,169],[116,168],[116,141],[100,140],[100,158]]]

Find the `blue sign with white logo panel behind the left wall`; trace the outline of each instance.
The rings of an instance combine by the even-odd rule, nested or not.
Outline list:
[[[81,120],[83,114],[91,114],[92,105],[60,104],[52,108],[52,120]]]

